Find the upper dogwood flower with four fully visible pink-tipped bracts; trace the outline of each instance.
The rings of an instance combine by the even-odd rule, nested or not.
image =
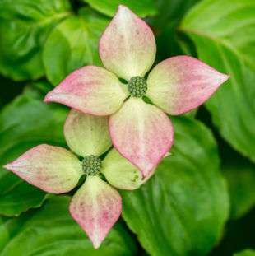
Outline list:
[[[105,68],[86,66],[72,72],[44,100],[86,114],[110,115],[114,147],[144,177],[173,144],[174,128],[166,114],[179,115],[197,108],[229,78],[188,56],[158,63],[146,78],[155,52],[150,27],[120,5],[99,42]],[[147,104],[143,96],[153,105]]]

